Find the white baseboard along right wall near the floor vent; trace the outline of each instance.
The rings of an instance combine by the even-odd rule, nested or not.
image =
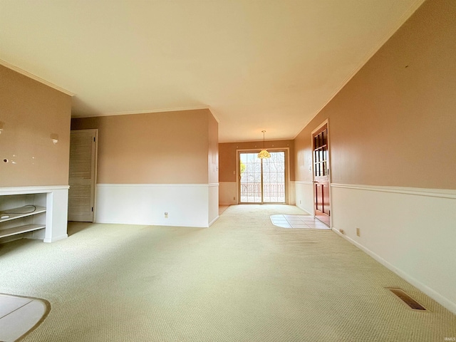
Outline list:
[[[447,308],[448,310],[456,313],[456,304],[455,303],[452,303],[452,301],[450,301],[446,297],[444,297],[441,294],[439,294],[438,292],[430,289],[429,286],[426,286],[425,284],[423,284],[422,282],[413,278],[412,276],[408,275],[404,271],[398,269],[393,264],[390,264],[388,261],[386,261],[385,259],[380,257],[378,254],[375,254],[374,252],[372,252],[370,249],[363,247],[362,244],[359,244],[358,242],[351,239],[350,237],[347,237],[345,234],[342,234],[341,232],[338,231],[338,229],[335,229],[333,227],[332,230],[333,230],[333,232],[336,232],[336,234],[338,234],[339,236],[346,239],[348,242],[351,242],[352,244],[354,244],[356,247],[361,249],[363,252],[368,254],[370,257],[373,257],[373,259],[378,261],[380,264],[385,266],[387,269],[389,269],[390,271],[393,271],[395,274],[400,276],[402,279],[404,279],[405,281],[408,281],[410,284],[412,284],[416,288],[420,289],[420,291],[423,291],[424,294],[427,294],[427,296],[430,296],[432,299],[434,299],[435,301],[440,303],[442,306],[445,306],[445,308]]]

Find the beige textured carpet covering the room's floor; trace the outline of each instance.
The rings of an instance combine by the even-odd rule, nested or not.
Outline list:
[[[445,341],[456,316],[291,206],[231,206],[206,229],[71,224],[0,246],[0,292],[47,299],[24,341]],[[385,287],[429,311],[406,308]]]

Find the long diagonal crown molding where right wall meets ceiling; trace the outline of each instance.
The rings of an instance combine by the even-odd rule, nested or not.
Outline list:
[[[361,63],[359,63],[358,66],[353,68],[353,71],[351,71],[351,73],[348,74],[345,80],[342,81],[341,85],[338,86],[336,90],[334,90],[332,95],[329,96],[328,100],[326,100],[326,102],[323,103],[323,105],[321,105],[321,107],[315,111],[314,115],[312,115],[311,118],[309,118],[309,120],[304,124],[304,127],[298,133],[296,133],[296,135],[294,135],[294,137],[291,140],[296,139],[296,137],[302,132],[302,130],[304,130],[304,128],[306,128],[306,126],[309,125],[309,123],[311,123],[312,120],[314,120],[316,115],[318,115],[318,113],[320,113],[321,110],[323,110],[323,108],[325,108],[326,105],[328,105],[328,103],[330,103],[331,100],[333,100],[333,98],[338,94],[339,91],[342,90],[343,87],[346,86],[346,84],[353,78],[353,76],[355,76],[358,73],[358,71],[360,71],[366,63],[368,63],[368,61],[375,55],[375,53],[377,53],[380,50],[380,48],[388,41],[388,39],[391,38],[396,31],[398,31],[400,26],[403,26],[405,21],[408,18],[410,18],[410,16],[412,16],[412,14],[418,9],[418,7],[420,7],[423,4],[424,1],[425,0],[415,0],[413,4],[410,5],[409,9],[405,11],[404,14],[398,20],[398,24],[396,24],[393,27],[393,29],[389,31],[388,34],[386,34],[382,40],[380,40],[380,42],[377,46],[375,46],[375,48],[373,48],[369,53],[366,54],[366,56],[361,60]]]

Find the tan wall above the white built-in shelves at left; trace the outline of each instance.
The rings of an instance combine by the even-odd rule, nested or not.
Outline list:
[[[68,185],[70,120],[71,96],[0,65],[0,187]]]

